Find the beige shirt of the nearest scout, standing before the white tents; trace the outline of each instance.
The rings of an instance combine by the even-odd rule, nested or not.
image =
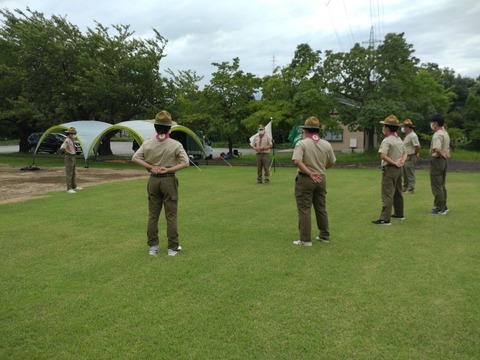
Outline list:
[[[163,141],[156,138],[145,140],[133,156],[151,165],[164,167],[172,167],[189,161],[182,144],[171,138]]]

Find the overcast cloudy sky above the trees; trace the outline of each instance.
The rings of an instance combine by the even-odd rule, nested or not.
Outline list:
[[[263,77],[287,66],[297,45],[348,52],[354,43],[375,45],[387,33],[405,33],[422,63],[457,74],[480,76],[478,0],[0,0],[0,8],[26,7],[60,15],[82,31],[130,25],[136,37],[168,40],[162,69],[194,70],[205,81],[211,63],[240,59],[240,67]]]

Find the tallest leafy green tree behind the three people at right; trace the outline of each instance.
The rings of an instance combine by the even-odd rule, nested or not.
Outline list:
[[[424,122],[427,114],[448,109],[448,92],[433,76],[419,72],[413,53],[403,33],[387,34],[377,49],[356,44],[348,53],[326,53],[327,88],[344,104],[344,123],[365,131],[370,150],[379,121],[388,115]]]

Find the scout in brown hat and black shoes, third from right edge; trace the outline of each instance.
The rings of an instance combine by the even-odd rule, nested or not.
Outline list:
[[[384,121],[382,133],[385,138],[378,150],[382,166],[382,210],[380,218],[372,221],[375,225],[391,225],[390,218],[405,220],[403,213],[402,169],[407,153],[403,141],[397,135],[400,122],[395,115],[388,116]],[[392,215],[392,207],[394,214]]]

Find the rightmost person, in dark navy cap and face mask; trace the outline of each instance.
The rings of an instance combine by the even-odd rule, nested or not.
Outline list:
[[[446,215],[447,189],[445,182],[447,178],[447,159],[450,158],[450,136],[443,128],[445,120],[441,114],[433,115],[430,119],[430,128],[434,131],[430,144],[430,185],[434,197],[433,215]]]

